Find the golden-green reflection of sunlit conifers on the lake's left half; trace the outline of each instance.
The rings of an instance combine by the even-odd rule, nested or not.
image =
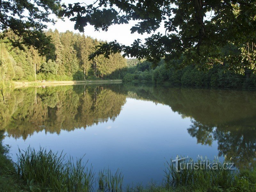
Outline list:
[[[15,89],[0,101],[0,126],[9,136],[26,139],[33,132],[60,133],[115,120],[126,95],[107,86],[56,86]]]

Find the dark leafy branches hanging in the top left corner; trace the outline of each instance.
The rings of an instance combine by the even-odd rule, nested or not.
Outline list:
[[[50,15],[57,15],[60,8],[60,0],[0,0],[0,31],[13,33],[2,33],[1,38],[8,34],[13,46],[33,46],[40,54],[51,55],[54,46],[44,29],[55,22]]]

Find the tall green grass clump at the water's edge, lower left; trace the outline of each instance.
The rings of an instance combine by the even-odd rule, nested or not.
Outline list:
[[[40,148],[19,149],[16,163],[18,174],[25,181],[34,181],[46,191],[91,191],[94,181],[92,167],[82,164],[82,158],[65,160],[62,153]]]

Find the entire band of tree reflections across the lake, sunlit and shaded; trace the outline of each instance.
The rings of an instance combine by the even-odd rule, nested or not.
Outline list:
[[[187,133],[198,144],[217,141],[219,156],[232,157],[238,167],[255,163],[255,92],[133,84],[20,88],[0,101],[0,126],[8,136],[24,140],[42,130],[85,129],[115,121],[126,98],[170,106],[182,118],[191,118]]]

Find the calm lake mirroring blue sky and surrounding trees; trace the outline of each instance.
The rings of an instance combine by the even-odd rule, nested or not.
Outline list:
[[[162,182],[177,155],[255,163],[256,92],[91,84],[5,91],[4,144],[82,157],[93,170],[118,168],[124,184]],[[97,174],[97,173],[96,173]]]

